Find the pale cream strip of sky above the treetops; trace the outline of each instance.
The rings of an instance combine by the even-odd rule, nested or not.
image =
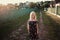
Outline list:
[[[8,4],[8,3],[15,4],[15,3],[26,2],[26,1],[37,2],[37,1],[45,1],[45,0],[0,0],[0,4]]]

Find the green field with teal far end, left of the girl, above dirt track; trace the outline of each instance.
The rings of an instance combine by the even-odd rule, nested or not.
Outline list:
[[[24,26],[24,32],[27,33],[26,23],[29,19],[29,13],[36,11],[37,18],[39,20],[39,14],[37,9],[33,8],[21,8],[21,9],[10,9],[0,13],[0,38],[8,37],[11,32],[17,30],[22,25]]]

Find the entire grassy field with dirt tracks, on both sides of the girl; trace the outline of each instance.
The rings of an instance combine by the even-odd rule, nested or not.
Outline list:
[[[40,38],[44,39],[45,36],[46,40],[59,40],[60,18],[44,11],[40,14],[40,10],[37,8],[21,8],[0,11],[0,39],[29,40],[26,24],[31,11],[35,11],[37,15],[39,32],[42,33],[42,35],[39,33]]]

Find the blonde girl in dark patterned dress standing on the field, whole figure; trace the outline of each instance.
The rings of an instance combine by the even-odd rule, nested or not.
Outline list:
[[[31,40],[38,38],[38,21],[34,11],[30,13],[30,18],[27,22],[27,29]]]

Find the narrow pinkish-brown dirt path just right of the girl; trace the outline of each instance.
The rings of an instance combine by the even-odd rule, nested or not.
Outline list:
[[[40,23],[39,23],[40,25],[40,28],[39,28],[39,40],[48,40],[47,39],[47,33],[48,33],[48,31],[46,30],[47,29],[47,27],[46,26],[44,26],[44,24],[43,24],[43,18],[42,18],[42,13],[40,12]]]

